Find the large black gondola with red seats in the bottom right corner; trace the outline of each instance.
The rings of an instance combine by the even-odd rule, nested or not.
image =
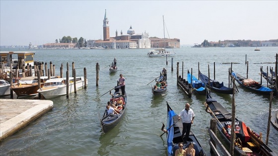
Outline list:
[[[217,118],[217,129],[220,132],[222,138],[224,138],[227,144],[230,144],[230,139],[228,139],[227,129],[225,129],[225,123],[231,122],[231,113],[228,112],[221,104],[217,103],[216,100],[212,99],[209,93],[207,93],[207,109],[210,108],[212,113],[210,113],[211,117]],[[241,121],[237,118],[235,119],[235,123],[240,123]],[[245,124],[244,124],[245,125]],[[236,125],[235,125],[236,126]],[[244,126],[243,126],[244,127]],[[244,129],[243,127],[235,128],[235,129]],[[238,142],[234,146],[234,151],[237,153],[236,155],[250,155],[251,153],[254,156],[277,156],[266,144],[263,143],[257,136],[254,135],[249,127],[246,126],[246,133],[248,136],[244,136],[246,141],[242,142],[242,144],[238,144]],[[243,131],[243,130],[242,130]],[[239,134],[239,133],[236,133]],[[255,136],[255,137],[254,137]],[[237,138],[240,138],[237,136]],[[255,141],[256,140],[256,141]],[[238,145],[242,145],[243,148],[240,148]],[[250,145],[256,145],[254,147],[250,147]],[[249,149],[251,148],[251,149]],[[244,149],[244,150],[242,150]],[[250,153],[250,151],[251,153]],[[249,151],[249,152],[248,152]]]

